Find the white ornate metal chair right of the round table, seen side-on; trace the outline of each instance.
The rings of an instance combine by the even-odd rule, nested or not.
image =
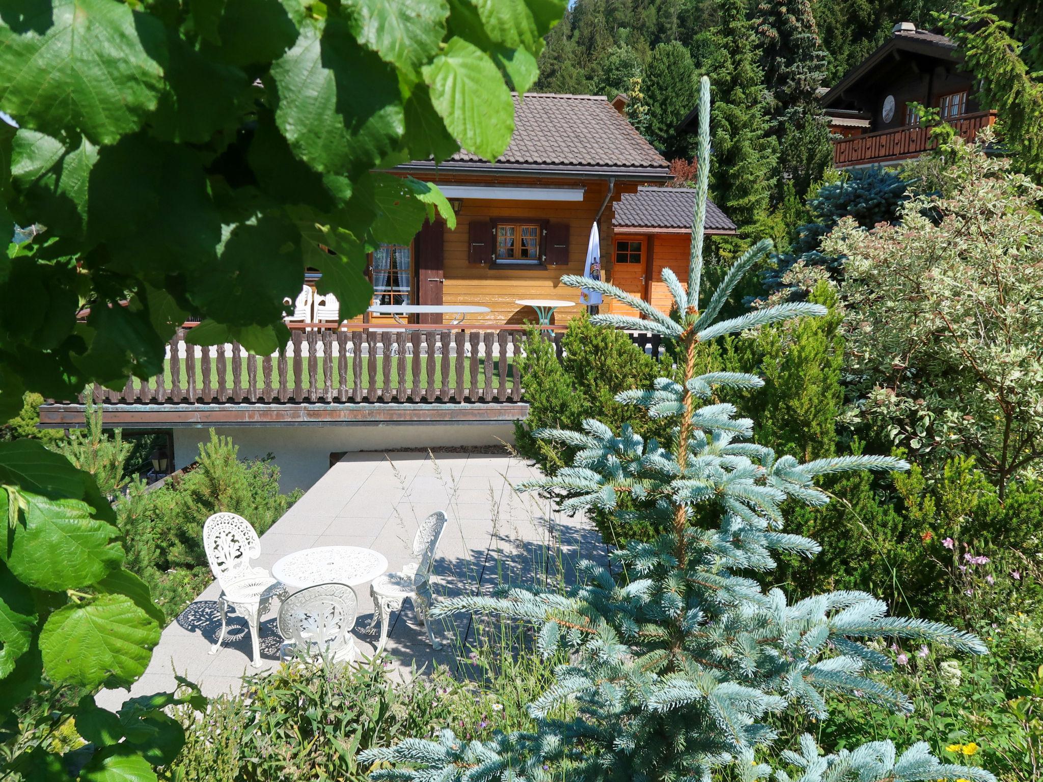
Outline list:
[[[402,609],[403,601],[413,602],[416,618],[428,630],[428,640],[434,649],[442,644],[435,640],[428,620],[428,609],[431,607],[431,579],[435,564],[435,552],[438,541],[445,529],[445,514],[435,511],[420,522],[420,528],[413,538],[413,562],[408,563],[398,572],[389,572],[373,579],[369,585],[369,595],[373,598],[373,619],[369,622],[368,632],[372,632],[377,622],[381,622],[381,640],[377,654],[384,650],[388,640],[388,618],[392,611]]]

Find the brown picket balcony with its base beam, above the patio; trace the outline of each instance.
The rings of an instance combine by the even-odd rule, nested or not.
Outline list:
[[[528,411],[518,358],[526,326],[293,323],[271,356],[239,344],[199,347],[171,339],[164,371],[89,391],[106,425],[308,425],[361,422],[509,422]],[[564,326],[543,326],[561,356]],[[658,356],[657,335],[633,334]],[[87,393],[40,409],[45,427],[83,424]]]

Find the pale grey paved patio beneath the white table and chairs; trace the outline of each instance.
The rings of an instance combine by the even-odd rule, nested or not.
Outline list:
[[[578,559],[603,560],[605,546],[592,524],[554,513],[549,502],[512,488],[534,474],[525,462],[508,456],[348,454],[262,536],[254,564],[271,569],[278,558],[302,548],[360,545],[382,553],[395,570],[409,561],[418,522],[436,510],[446,511],[450,519],[435,564],[436,601],[438,595],[487,593],[505,580],[532,583],[560,571],[567,575]],[[378,636],[362,630],[372,616],[369,585],[355,590],[357,643],[371,655]],[[220,631],[219,593],[212,583],[164,630],[130,695],[172,689],[175,671],[198,683],[207,695],[238,690],[243,673],[253,670],[250,639],[245,620],[229,613],[224,645],[210,654]],[[261,627],[262,669],[278,664],[276,612],[274,607]],[[436,621],[434,630],[443,643],[438,652],[428,645],[411,605],[392,614],[386,651],[393,664],[403,670],[414,663],[428,669],[432,663],[452,665],[474,640],[467,615]],[[115,708],[127,697],[125,689],[102,690],[97,702]]]

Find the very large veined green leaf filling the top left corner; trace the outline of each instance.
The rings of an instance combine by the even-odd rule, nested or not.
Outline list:
[[[28,128],[113,144],[163,91],[163,24],[112,0],[24,0],[32,31],[0,25],[0,105]],[[38,32],[37,30],[45,30]]]

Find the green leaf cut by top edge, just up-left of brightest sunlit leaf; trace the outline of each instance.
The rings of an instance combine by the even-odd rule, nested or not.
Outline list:
[[[360,44],[386,63],[415,73],[438,53],[450,6],[445,0],[348,0]]]

